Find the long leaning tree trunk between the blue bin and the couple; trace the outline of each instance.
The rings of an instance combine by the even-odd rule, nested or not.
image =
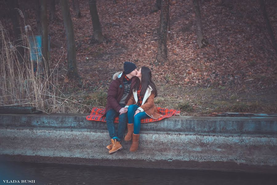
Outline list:
[[[62,8],[63,23],[66,30],[66,46],[67,46],[67,72],[70,79],[78,76],[76,62],[76,45],[74,38],[74,27],[71,20],[68,1],[60,0]]]

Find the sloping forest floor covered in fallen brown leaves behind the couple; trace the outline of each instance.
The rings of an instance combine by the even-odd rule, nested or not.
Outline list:
[[[167,39],[168,62],[157,63],[160,12],[151,13],[154,0],[97,1],[105,40],[92,39],[93,28],[88,2],[79,0],[81,18],[70,4],[77,47],[78,73],[82,84],[64,78],[66,35],[60,5],[57,18],[49,24],[51,63],[59,66],[63,92],[83,104],[104,106],[105,94],[123,62],[148,66],[159,96],[160,107],[181,109],[181,115],[203,116],[211,112],[277,113],[277,61],[269,42],[264,18],[256,1],[200,0],[204,37],[209,43],[199,49],[196,42],[195,11],[192,1],[176,1],[170,6]],[[71,3],[71,1],[70,1]],[[267,13],[277,36],[276,1],[266,1]],[[34,6],[25,8],[26,24],[36,32]],[[10,19],[1,19],[11,29]],[[88,59],[86,59],[88,57]],[[62,76],[63,75],[63,76]],[[98,97],[99,95],[99,97]],[[102,100],[101,100],[102,98]],[[87,110],[86,113],[90,113]]]

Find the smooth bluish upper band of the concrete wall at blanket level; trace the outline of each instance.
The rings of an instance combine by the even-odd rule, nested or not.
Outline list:
[[[2,127],[71,128],[107,130],[105,122],[88,121],[87,114],[0,114]],[[162,121],[143,123],[142,131],[193,134],[266,134],[276,135],[277,117],[194,117],[173,116]]]

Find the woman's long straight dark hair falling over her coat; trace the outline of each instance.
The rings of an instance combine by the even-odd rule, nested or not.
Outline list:
[[[138,80],[140,81],[140,80]],[[141,81],[137,82],[136,84],[134,84],[134,88],[133,91],[137,91],[139,90],[139,85],[141,84],[141,95],[145,95],[145,92],[148,88],[148,85],[151,86],[151,88],[153,89],[152,92],[155,93],[155,97],[158,96],[158,92],[157,92],[157,88],[156,85],[154,84],[154,82],[152,81],[152,73],[151,70],[145,66],[143,66],[141,68]]]

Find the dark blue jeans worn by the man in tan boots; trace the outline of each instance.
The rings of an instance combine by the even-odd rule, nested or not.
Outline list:
[[[124,107],[125,104],[119,104],[121,107]],[[114,109],[110,109],[108,110],[108,112],[106,113],[106,121],[107,121],[107,127],[108,127],[108,131],[110,134],[110,138],[111,139],[118,139],[118,141],[121,141],[121,139],[123,138],[123,134],[125,132],[126,129],[126,120],[127,120],[127,114],[121,114],[119,115],[119,119],[118,119],[118,128],[116,131],[115,126],[114,126],[114,118],[116,116],[118,116],[119,113],[116,112]]]

